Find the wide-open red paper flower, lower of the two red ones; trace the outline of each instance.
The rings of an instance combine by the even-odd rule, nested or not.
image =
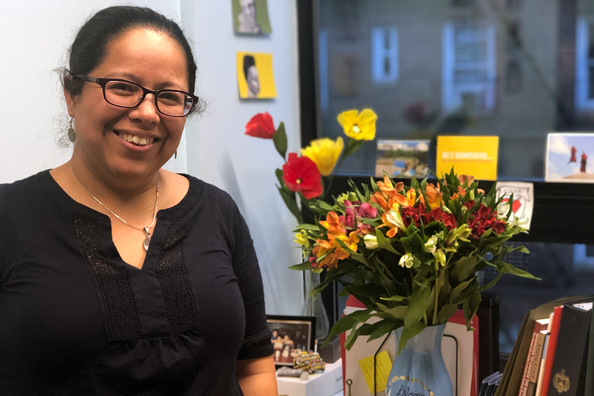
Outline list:
[[[283,180],[293,192],[301,191],[305,199],[319,197],[322,192],[320,171],[308,157],[298,157],[289,153],[289,160],[283,165]]]

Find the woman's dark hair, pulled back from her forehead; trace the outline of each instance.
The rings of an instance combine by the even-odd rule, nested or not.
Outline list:
[[[197,68],[192,49],[181,28],[150,8],[130,6],[104,8],[80,28],[68,51],[68,69],[62,71],[64,89],[72,96],[79,95],[83,91],[84,81],[73,75],[89,74],[105,60],[106,47],[110,42],[119,34],[138,27],[166,33],[184,49],[189,92],[194,94]],[[203,102],[199,100],[192,112],[200,111],[202,107]]]

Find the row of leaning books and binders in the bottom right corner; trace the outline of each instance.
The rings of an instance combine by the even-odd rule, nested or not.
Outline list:
[[[594,396],[592,296],[527,313],[495,396]]]

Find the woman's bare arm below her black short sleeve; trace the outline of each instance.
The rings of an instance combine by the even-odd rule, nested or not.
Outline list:
[[[245,396],[278,396],[272,355],[238,360],[235,376]]]

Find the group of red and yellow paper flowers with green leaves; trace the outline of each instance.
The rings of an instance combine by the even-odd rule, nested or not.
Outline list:
[[[312,199],[326,197],[334,180],[334,170],[346,157],[359,150],[365,141],[375,138],[376,120],[377,115],[370,109],[364,109],[361,113],[358,110],[340,113],[337,121],[347,137],[346,148],[342,137],[336,140],[316,139],[301,149],[301,157],[297,153],[286,156],[285,124],[281,122],[279,128],[275,129],[273,119],[268,113],[259,113],[252,117],[245,126],[245,134],[274,141],[274,147],[286,161],[282,169],[276,170],[279,180],[277,187],[293,216],[299,223],[303,223],[303,208],[308,208]]]

